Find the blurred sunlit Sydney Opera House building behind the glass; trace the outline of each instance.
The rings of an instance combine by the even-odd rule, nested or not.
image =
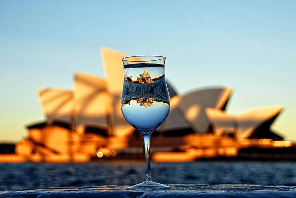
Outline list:
[[[101,49],[105,78],[75,73],[73,90],[39,88],[46,120],[28,124],[28,137],[15,154],[0,161],[84,162],[143,158],[143,139],[122,116],[121,59],[127,55]],[[270,130],[283,107],[225,111],[232,89],[213,87],[177,94],[168,83],[170,113],[153,133],[154,161],[192,161],[236,157],[247,148],[287,148],[292,141]],[[143,107],[145,108],[145,107]]]

